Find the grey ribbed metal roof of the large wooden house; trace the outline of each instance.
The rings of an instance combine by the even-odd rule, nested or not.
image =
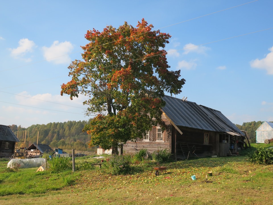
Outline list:
[[[231,131],[234,134],[245,136],[243,132],[218,110],[167,95],[162,99],[166,102],[162,111],[176,126],[215,132]]]

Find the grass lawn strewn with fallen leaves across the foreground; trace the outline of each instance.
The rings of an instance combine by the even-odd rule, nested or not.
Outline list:
[[[0,204],[273,204],[273,165],[247,159],[178,161],[165,164],[167,172],[159,176],[153,161],[136,163],[131,174],[115,176],[106,160],[102,169],[36,173],[37,168],[9,171],[8,160],[0,159]],[[76,164],[96,161],[80,157]],[[209,171],[213,175],[206,178]]]

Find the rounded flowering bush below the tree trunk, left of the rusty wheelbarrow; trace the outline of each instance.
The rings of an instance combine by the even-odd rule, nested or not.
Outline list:
[[[128,174],[131,171],[130,160],[123,155],[114,155],[109,160],[112,175]]]

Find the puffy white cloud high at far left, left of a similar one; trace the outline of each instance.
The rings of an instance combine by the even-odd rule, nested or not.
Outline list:
[[[31,61],[30,58],[24,59],[22,58],[26,53],[32,52],[35,47],[35,43],[32,40],[28,40],[27,38],[22,38],[19,40],[19,46],[17,48],[10,49],[11,56],[14,58],[19,58],[26,61]]]

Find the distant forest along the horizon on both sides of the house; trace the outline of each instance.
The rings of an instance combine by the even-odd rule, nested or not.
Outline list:
[[[238,125],[237,128],[247,132],[249,141],[251,143],[256,142],[256,130],[262,124],[263,121],[258,122],[244,122],[243,125]],[[48,144],[52,149],[76,149],[80,151],[95,151],[96,147],[89,148],[90,135],[86,132],[82,132],[84,125],[88,124],[88,121],[68,121],[68,122],[52,122],[48,124],[36,124],[28,128],[22,128],[17,125],[9,125],[11,130],[17,136],[20,141],[24,141],[23,133],[26,130],[26,147],[32,143],[37,142],[38,131],[38,144]],[[22,146],[22,144],[19,146]]]

